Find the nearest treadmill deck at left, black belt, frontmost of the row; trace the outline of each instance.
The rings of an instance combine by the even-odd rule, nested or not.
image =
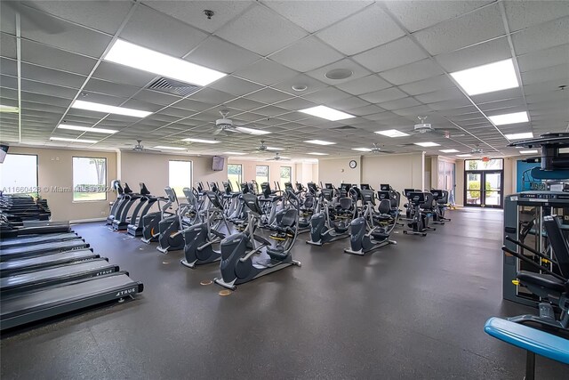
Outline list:
[[[47,287],[32,293],[4,297],[0,302],[2,329],[76,311],[99,303],[136,295],[142,284],[124,272]]]

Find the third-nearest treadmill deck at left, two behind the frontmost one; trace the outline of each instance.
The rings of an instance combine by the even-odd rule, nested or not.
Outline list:
[[[10,260],[4,263],[0,263],[0,276],[12,276],[14,273],[21,271],[37,271],[40,268],[45,268],[53,265],[80,262],[98,257],[99,255],[93,254],[91,249],[77,249],[76,251],[60,252],[58,254],[29,257],[20,260]]]

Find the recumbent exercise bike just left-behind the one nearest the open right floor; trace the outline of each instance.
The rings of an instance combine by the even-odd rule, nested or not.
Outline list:
[[[340,219],[341,214],[347,217],[349,213],[356,213],[354,200],[349,197],[338,198],[338,202],[333,201],[333,188],[326,187],[320,190],[320,201],[317,204],[315,214],[310,218],[310,239],[307,244],[312,246],[322,246],[334,240],[349,237],[349,222]],[[322,207],[322,211],[320,211]],[[339,219],[339,220],[336,220]]]

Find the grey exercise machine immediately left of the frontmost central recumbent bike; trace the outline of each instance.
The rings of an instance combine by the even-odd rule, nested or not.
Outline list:
[[[188,268],[196,268],[196,265],[217,262],[221,259],[220,250],[213,248],[219,244],[225,234],[219,231],[222,224],[229,231],[229,225],[219,196],[213,191],[206,191],[210,207],[205,210],[204,221],[181,230],[184,238],[184,259],[180,261]]]

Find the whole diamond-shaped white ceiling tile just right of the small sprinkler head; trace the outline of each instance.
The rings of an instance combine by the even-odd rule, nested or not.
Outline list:
[[[264,6],[257,5],[220,28],[216,35],[255,53],[268,55],[307,36],[307,33]]]

